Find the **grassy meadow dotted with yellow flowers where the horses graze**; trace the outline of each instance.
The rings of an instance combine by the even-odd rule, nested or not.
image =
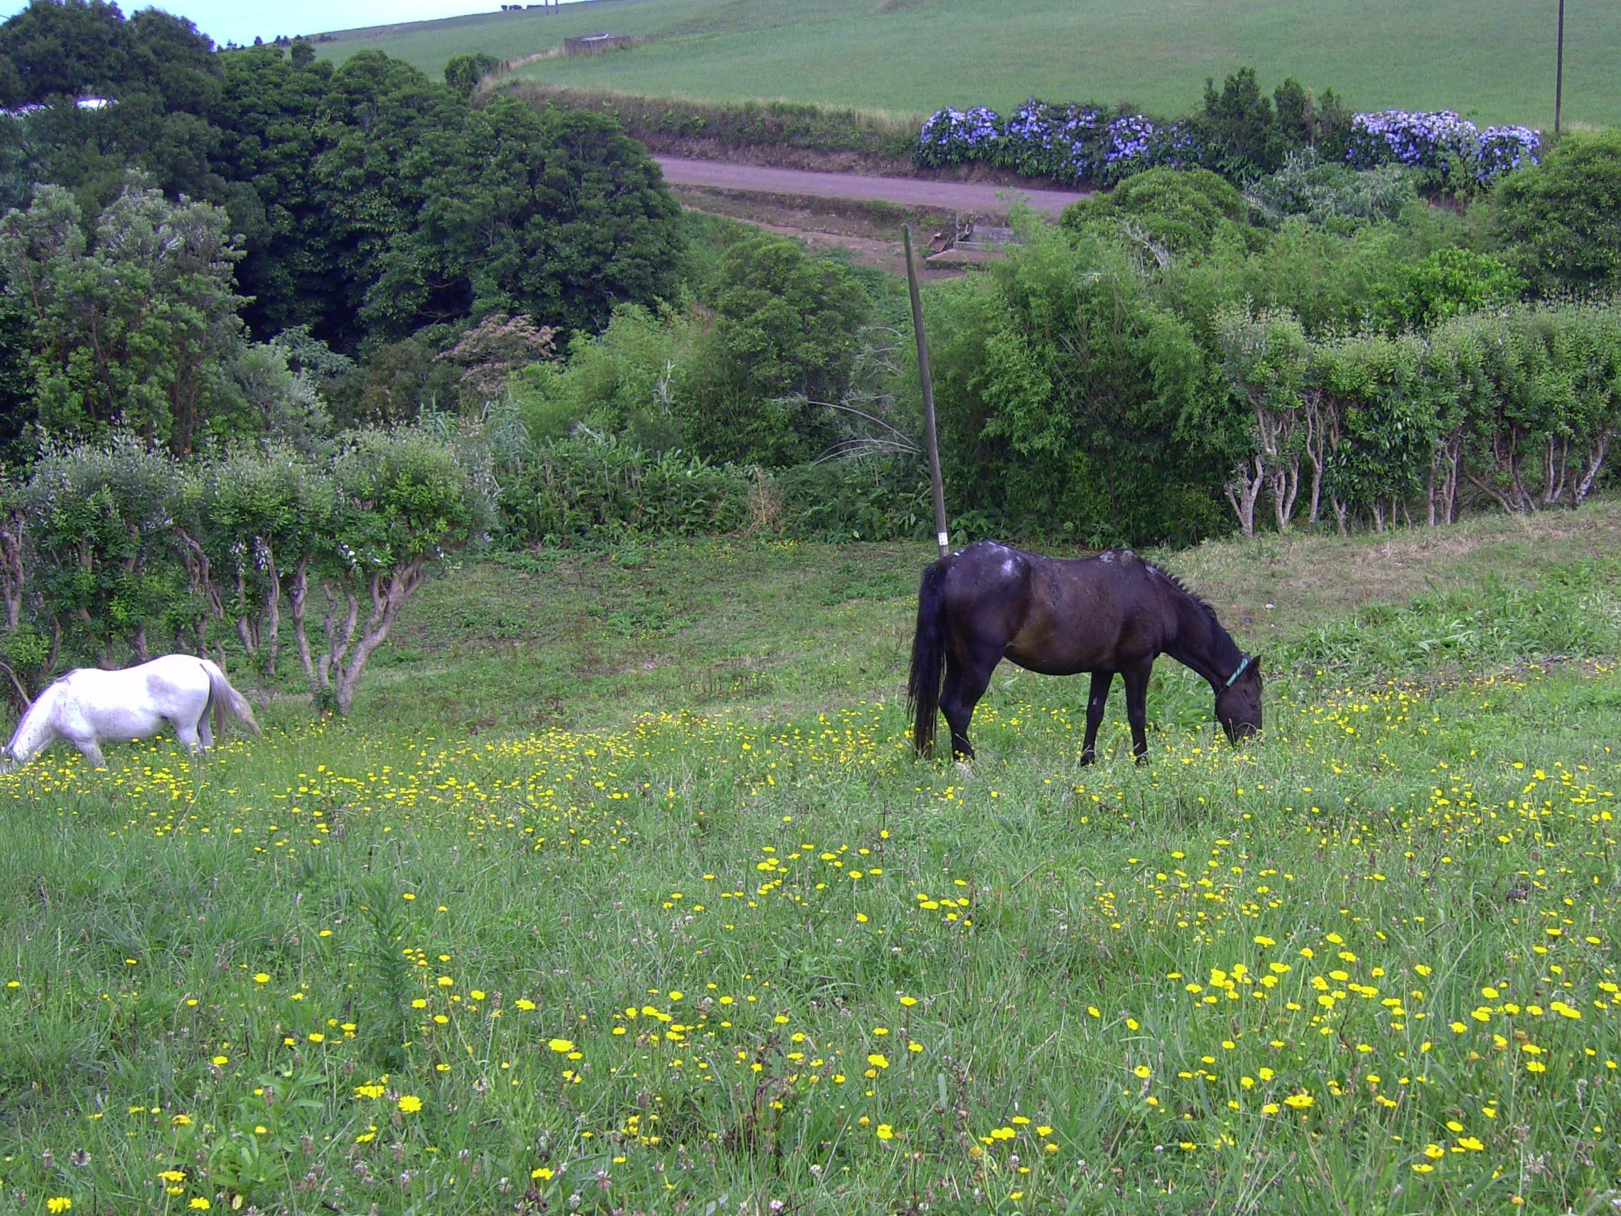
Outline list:
[[[906,751],[922,546],[470,567],[347,723],[0,778],[0,1203],[1585,1210],[1618,529],[1167,559],[1264,743],[1162,662],[1083,770],[1005,668],[973,775]]]

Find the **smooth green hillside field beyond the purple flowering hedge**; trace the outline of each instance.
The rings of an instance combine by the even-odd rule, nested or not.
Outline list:
[[[566,36],[645,44],[548,58],[528,79],[704,101],[749,97],[927,113],[1028,96],[1130,101],[1177,113],[1206,76],[1242,63],[1294,75],[1362,110],[1456,109],[1483,123],[1553,125],[1555,5],[1503,0],[592,0],[556,16],[480,18],[345,34],[323,54],[378,47],[438,73],[454,54],[519,58]],[[1621,6],[1566,15],[1564,118],[1621,123]]]

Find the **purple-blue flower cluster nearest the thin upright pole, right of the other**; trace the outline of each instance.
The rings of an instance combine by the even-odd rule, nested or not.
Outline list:
[[[1542,135],[1529,126],[1488,126],[1486,133],[1452,110],[1383,110],[1350,120],[1345,159],[1357,169],[1399,164],[1436,175],[1459,190],[1495,182],[1522,164],[1537,164]]]

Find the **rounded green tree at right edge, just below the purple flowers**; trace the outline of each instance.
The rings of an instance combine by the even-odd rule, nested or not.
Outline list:
[[[1496,203],[1495,232],[1538,292],[1621,289],[1621,131],[1571,131]]]

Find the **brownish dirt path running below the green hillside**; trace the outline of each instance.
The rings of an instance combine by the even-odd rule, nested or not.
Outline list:
[[[1013,199],[1023,198],[1033,209],[1057,217],[1070,203],[1086,198],[1084,193],[1070,190],[1021,190],[971,182],[930,182],[916,177],[814,173],[802,169],[682,161],[669,156],[653,159],[665,170],[665,180],[673,185],[861,201],[879,199],[943,211],[973,211],[982,216],[1005,216]]]

